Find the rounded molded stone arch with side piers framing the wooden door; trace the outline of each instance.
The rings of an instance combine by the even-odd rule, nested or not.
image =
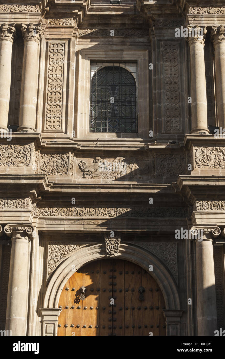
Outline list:
[[[80,267],[89,262],[107,258],[105,246],[102,243],[87,244],[72,253],[56,267],[49,278],[42,312],[42,335],[57,335],[57,323],[61,309],[59,306],[60,294],[66,281]],[[132,243],[120,244],[118,259],[133,262],[146,271],[149,265],[153,266],[152,277],[159,285],[164,295],[166,309],[166,335],[180,335],[180,300],[177,284],[165,264],[152,253]]]

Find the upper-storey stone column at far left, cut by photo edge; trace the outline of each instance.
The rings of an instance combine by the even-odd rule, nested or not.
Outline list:
[[[12,45],[15,24],[0,25],[0,132],[8,131]]]

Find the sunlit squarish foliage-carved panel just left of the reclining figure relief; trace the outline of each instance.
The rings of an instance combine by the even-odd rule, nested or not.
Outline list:
[[[41,153],[40,157],[40,173],[47,173],[51,176],[68,176],[69,153]]]

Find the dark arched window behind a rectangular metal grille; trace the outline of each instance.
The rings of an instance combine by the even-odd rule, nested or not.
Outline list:
[[[137,85],[134,78],[136,64],[129,64],[129,67],[126,64],[97,65],[100,64],[95,64],[96,71],[91,79],[89,131],[136,133]]]

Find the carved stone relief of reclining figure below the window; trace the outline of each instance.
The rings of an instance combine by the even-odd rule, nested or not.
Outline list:
[[[101,157],[96,157],[91,164],[81,160],[78,166],[83,172],[83,178],[116,180],[125,175],[131,175],[132,171],[138,168],[136,163],[129,164],[124,160],[124,157],[117,157],[112,162],[107,162]]]

